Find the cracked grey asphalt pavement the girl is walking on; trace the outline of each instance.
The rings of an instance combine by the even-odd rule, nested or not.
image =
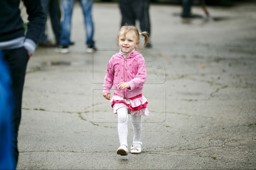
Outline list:
[[[70,53],[37,47],[28,63],[17,169],[256,169],[256,4],[208,10],[207,19],[193,6],[198,17],[182,19],[180,6],[150,6],[153,47],[138,49],[150,112],[142,153],[120,156],[117,115],[102,96],[118,4],[94,3],[91,55],[76,4]]]

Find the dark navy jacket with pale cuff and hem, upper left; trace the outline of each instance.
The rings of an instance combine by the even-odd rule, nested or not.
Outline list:
[[[11,42],[11,40],[24,37],[22,39],[22,41],[24,40],[24,47],[33,53],[44,28],[46,17],[40,0],[22,1],[26,6],[29,21],[26,35],[20,17],[20,0],[0,0],[0,46],[2,50],[10,49],[12,48],[8,47],[10,43],[17,43],[16,41]]]

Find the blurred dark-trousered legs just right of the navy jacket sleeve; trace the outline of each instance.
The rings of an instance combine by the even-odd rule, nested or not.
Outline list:
[[[48,40],[46,31],[47,25],[45,24],[45,27],[43,29],[43,32],[38,40],[38,46],[42,47],[56,47],[59,45],[60,42],[60,34],[61,34],[61,25],[60,25],[60,6],[59,6],[59,0],[41,0],[41,4],[43,6],[44,14],[47,18],[47,15],[50,15],[50,21],[52,23],[52,29],[55,35],[55,42],[56,44],[52,44]]]

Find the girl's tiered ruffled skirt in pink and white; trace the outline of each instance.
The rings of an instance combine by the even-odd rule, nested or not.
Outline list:
[[[128,109],[128,114],[139,116],[148,116],[149,111],[146,108],[148,104],[146,98],[140,94],[132,98],[123,98],[114,93],[111,98],[111,107],[113,108],[114,114],[117,114],[117,109],[121,107],[126,107]]]

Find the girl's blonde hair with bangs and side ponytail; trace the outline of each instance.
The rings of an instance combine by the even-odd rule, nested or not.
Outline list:
[[[123,35],[126,36],[126,34],[129,32],[129,31],[133,31],[136,36],[137,36],[137,41],[139,41],[139,36],[140,34],[144,36],[144,45],[143,47],[146,45],[147,42],[149,42],[149,34],[148,32],[144,31],[142,33],[139,32],[138,28],[133,26],[133,25],[128,25],[127,23],[124,24],[124,26],[122,26],[119,30],[119,32],[117,33],[117,39],[119,39],[119,36],[120,36],[120,33],[123,32]]]

